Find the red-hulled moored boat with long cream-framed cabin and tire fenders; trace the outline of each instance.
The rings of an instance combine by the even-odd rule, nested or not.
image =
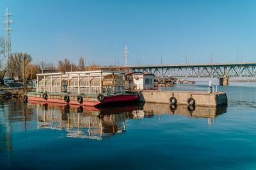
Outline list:
[[[36,91],[24,95],[24,101],[71,105],[106,105],[138,100],[138,93],[125,91],[125,73],[86,71],[36,74]]]

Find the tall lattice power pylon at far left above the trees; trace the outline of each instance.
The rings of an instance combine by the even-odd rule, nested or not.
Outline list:
[[[10,59],[10,54],[12,52],[11,50],[11,27],[10,27],[10,23],[12,23],[13,21],[10,20],[10,15],[11,13],[8,12],[8,8],[6,8],[6,13],[5,13],[5,39],[4,39],[4,56],[6,59],[6,66],[7,66],[7,72],[8,72],[8,76],[10,77],[10,70],[9,70],[9,59]]]

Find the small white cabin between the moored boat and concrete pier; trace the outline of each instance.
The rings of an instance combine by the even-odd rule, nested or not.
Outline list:
[[[153,89],[154,88],[154,74],[133,72],[125,75],[126,89]]]

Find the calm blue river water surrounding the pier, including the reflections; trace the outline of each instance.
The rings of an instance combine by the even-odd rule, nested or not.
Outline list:
[[[218,91],[227,107],[195,111],[0,102],[0,169],[256,169],[256,86]]]

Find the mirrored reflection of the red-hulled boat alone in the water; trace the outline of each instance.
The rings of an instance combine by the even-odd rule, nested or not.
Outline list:
[[[124,107],[73,107],[36,104],[38,128],[66,130],[67,137],[102,139],[125,132],[125,120],[133,118],[132,111],[140,105]]]

